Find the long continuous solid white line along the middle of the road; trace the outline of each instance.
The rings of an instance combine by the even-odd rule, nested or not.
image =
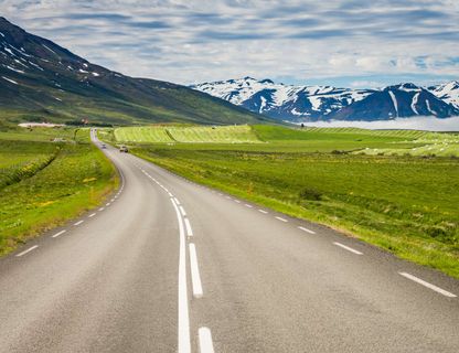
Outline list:
[[[191,352],[190,341],[190,314],[188,309],[188,289],[186,289],[186,249],[185,235],[183,231],[182,217],[180,216],[179,207],[171,199],[172,205],[175,208],[177,221],[179,222],[180,234],[180,250],[179,250],[179,353]]]

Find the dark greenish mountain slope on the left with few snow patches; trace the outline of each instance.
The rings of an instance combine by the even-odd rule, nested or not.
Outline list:
[[[153,64],[153,63],[152,63]],[[0,18],[0,119],[104,124],[259,122],[266,117],[189,87],[89,63]]]

